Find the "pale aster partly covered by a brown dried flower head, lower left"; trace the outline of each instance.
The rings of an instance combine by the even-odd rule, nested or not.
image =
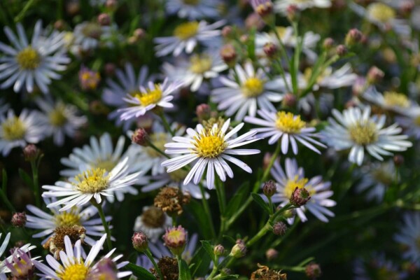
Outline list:
[[[44,198],[45,205],[54,202]],[[50,212],[47,213],[34,205],[28,205],[27,209],[27,223],[25,227],[42,230],[41,232],[32,235],[34,238],[46,237],[41,244],[45,242],[54,234],[54,230],[58,227],[73,225],[81,225],[86,230],[85,242],[93,246],[96,241],[92,237],[102,236],[104,234],[104,226],[101,219],[93,218],[97,215],[97,208],[90,207],[73,207],[66,211],[59,211],[59,207],[51,207]],[[34,214],[32,216],[31,214]],[[111,221],[111,216],[106,217],[106,221]]]

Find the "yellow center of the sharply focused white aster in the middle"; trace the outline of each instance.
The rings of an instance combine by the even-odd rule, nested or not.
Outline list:
[[[225,151],[225,135],[220,130],[204,130],[194,137],[192,144],[195,146],[197,157],[217,158]]]

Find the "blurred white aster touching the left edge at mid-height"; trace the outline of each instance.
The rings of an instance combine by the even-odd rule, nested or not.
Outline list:
[[[6,116],[0,116],[0,151],[5,157],[15,147],[25,148],[28,143],[36,144],[45,138],[45,123],[37,111],[23,109],[19,116],[9,109]]]

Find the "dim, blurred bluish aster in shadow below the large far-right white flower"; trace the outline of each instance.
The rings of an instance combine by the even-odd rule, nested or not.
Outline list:
[[[359,173],[359,172],[358,172]],[[367,200],[382,202],[386,190],[395,180],[395,165],[392,160],[387,162],[372,162],[360,169],[361,179],[356,184],[356,192],[366,191]],[[398,176],[398,181],[399,181]]]

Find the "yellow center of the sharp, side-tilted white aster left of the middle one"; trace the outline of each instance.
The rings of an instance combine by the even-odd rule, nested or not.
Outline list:
[[[99,193],[108,188],[109,175],[106,170],[97,168],[90,169],[74,177],[76,186],[82,193]]]

